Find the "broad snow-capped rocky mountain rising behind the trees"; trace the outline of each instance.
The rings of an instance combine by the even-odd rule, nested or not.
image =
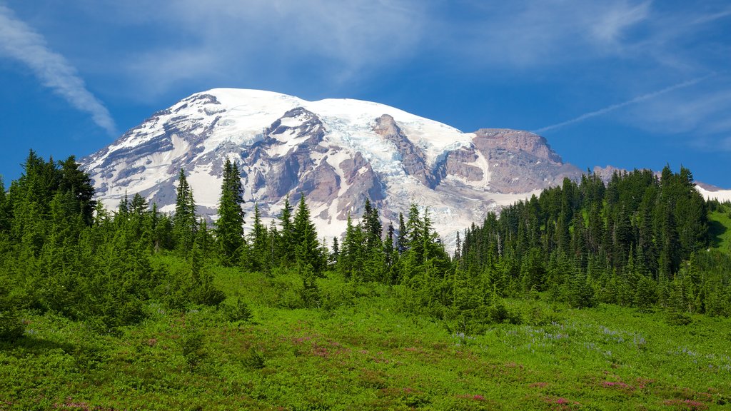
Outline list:
[[[212,217],[226,158],[241,170],[245,209],[279,215],[306,195],[321,235],[341,235],[366,197],[395,222],[410,203],[428,206],[452,238],[488,211],[581,172],[543,137],[510,129],[461,132],[374,102],[309,102],[270,91],[216,88],[155,113],[81,160],[107,207],[140,193],[173,211],[181,167],[201,214]],[[250,219],[249,219],[250,220]]]

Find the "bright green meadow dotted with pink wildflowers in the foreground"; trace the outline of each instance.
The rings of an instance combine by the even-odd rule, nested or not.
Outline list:
[[[173,263],[170,261],[169,263]],[[731,320],[507,301],[480,336],[401,314],[398,287],[209,268],[229,298],[115,335],[24,314],[0,345],[0,410],[705,410],[731,407]],[[236,301],[253,317],[232,322]],[[235,310],[234,310],[235,311]],[[245,310],[244,310],[245,311]],[[241,315],[239,318],[245,318]]]

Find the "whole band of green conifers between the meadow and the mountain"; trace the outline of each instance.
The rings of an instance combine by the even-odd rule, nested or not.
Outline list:
[[[186,173],[178,176],[172,215],[136,194],[115,211],[94,200],[75,158],[45,161],[30,152],[23,175],[0,189],[0,334],[23,332],[22,310],[56,312],[101,332],[143,320],[151,301],[171,309],[217,306],[211,265],[240,275],[292,271],[302,286],[292,304],[322,303],[317,279],[393,286],[405,312],[428,314],[461,332],[518,322],[506,297],[545,295],[586,307],[596,303],[662,309],[675,323],[687,314],[731,315],[731,258],[709,248],[707,202],[692,174],[665,167],[615,173],[608,184],[588,173],[578,183],[489,214],[458,236],[450,256],[433,230],[428,205],[412,204],[384,226],[366,200],[348,216],[343,238],[320,240],[303,195],[285,202],[278,221],[245,216],[238,167],[227,160],[219,216],[209,227],[195,214]],[[1,184],[0,184],[1,185]],[[244,233],[244,219],[253,228]],[[161,263],[156,255],[178,263]],[[241,308],[246,312],[245,308]]]

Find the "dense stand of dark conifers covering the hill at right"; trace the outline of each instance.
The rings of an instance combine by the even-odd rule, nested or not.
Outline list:
[[[490,214],[463,235],[464,276],[501,295],[545,292],[573,306],[616,303],[686,314],[731,314],[728,252],[709,248],[709,208],[692,173],[664,167],[588,173]]]

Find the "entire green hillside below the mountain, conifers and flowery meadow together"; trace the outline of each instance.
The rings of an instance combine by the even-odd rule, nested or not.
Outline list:
[[[447,249],[428,204],[218,215],[95,200],[75,157],[0,180],[0,410],[706,410],[731,404],[731,204],[587,173]],[[251,227],[244,230],[243,227]]]

